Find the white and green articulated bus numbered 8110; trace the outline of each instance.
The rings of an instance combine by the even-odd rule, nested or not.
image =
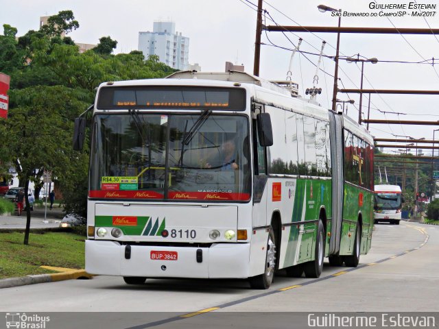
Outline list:
[[[234,71],[106,82],[91,127],[88,273],[267,289],[370,248],[372,137],[285,88]]]

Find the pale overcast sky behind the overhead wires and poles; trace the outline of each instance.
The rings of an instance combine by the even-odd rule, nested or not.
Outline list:
[[[332,8],[342,8],[346,12],[368,13],[366,17],[343,16],[343,27],[416,27],[439,28],[438,0],[377,0],[379,4],[412,3],[436,4],[436,10],[425,10],[434,16],[429,17],[371,17],[370,14],[381,10],[371,10],[371,1],[365,0],[268,0],[263,8],[266,25],[274,25],[269,16],[279,25],[303,26],[336,26],[338,19],[331,12],[318,11],[319,4]],[[373,1],[372,1],[373,2]],[[200,64],[202,71],[224,71],[226,61],[234,64],[244,64],[248,73],[253,71],[254,38],[256,27],[256,11],[253,4],[257,0],[0,0],[0,24],[5,23],[16,27],[18,36],[29,29],[38,29],[39,17],[56,14],[60,10],[72,10],[80,28],[69,36],[75,42],[97,44],[102,36],[110,36],[118,41],[115,53],[128,53],[136,50],[139,32],[152,31],[154,21],[174,21],[176,31],[182,32],[190,40],[189,63]],[[382,10],[396,12],[397,10]],[[407,10],[411,13],[417,10]],[[261,42],[260,76],[268,80],[285,80],[289,71],[291,51],[270,46],[291,49],[292,43],[297,44],[298,38],[303,39],[300,50],[313,53],[320,52],[322,40],[327,44],[323,53],[335,55],[336,34],[311,34],[263,32]],[[405,39],[404,39],[405,38]],[[359,53],[365,58],[378,60],[397,60],[419,62],[431,58],[439,58],[439,36],[414,36],[399,34],[342,34],[340,37],[340,56],[353,56]],[[288,40],[289,39],[289,40]],[[313,86],[313,76],[316,73],[318,56],[309,55],[307,58],[296,56],[292,65],[292,76],[299,84],[300,94],[306,88]],[[439,59],[437,60],[439,63]],[[364,64],[364,88],[375,89],[439,89],[439,65],[428,64],[394,64],[378,62]],[[318,87],[322,95],[318,102],[325,108],[331,108],[334,61],[324,58],[320,64],[329,74],[318,74]],[[339,88],[359,88],[361,79],[361,64],[340,61]],[[348,104],[348,115],[358,119],[359,95],[338,93],[338,99],[354,99],[353,105]],[[372,95],[370,119],[390,120],[439,120],[439,95]],[[339,106],[340,108],[340,106]],[[403,114],[382,114],[379,112],[401,112]],[[363,97],[363,110],[368,112],[368,95]],[[370,125],[370,132],[377,138],[392,138],[394,135],[411,136],[413,138],[432,139],[434,129],[438,126],[414,125]],[[439,131],[435,137],[439,139]],[[387,149],[386,151],[392,151]],[[431,151],[423,151],[430,154]],[[419,151],[420,153],[420,151]]]

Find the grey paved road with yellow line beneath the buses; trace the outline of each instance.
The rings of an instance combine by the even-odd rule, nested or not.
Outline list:
[[[169,318],[199,310],[213,310],[210,317],[219,317],[218,313],[222,312],[227,312],[228,317],[272,311],[437,312],[438,254],[439,226],[383,223],[375,226],[372,248],[368,255],[361,256],[357,269],[330,267],[325,263],[320,279],[287,278],[278,273],[268,291],[252,290],[244,280],[150,279],[142,286],[129,286],[122,278],[98,276],[93,280],[1,289],[0,311],[158,312],[148,320],[142,318],[143,313],[132,313],[137,317],[130,317],[130,324],[163,319],[163,326],[158,328],[190,328],[189,319],[176,317],[171,321]],[[103,313],[95,313],[99,314]],[[202,317],[204,321],[209,319],[208,315]],[[106,317],[110,318],[110,315]],[[125,322],[121,326],[117,320],[111,323],[118,325],[114,328],[127,327]],[[258,323],[250,326],[246,321],[249,328],[264,328]],[[289,324],[288,319],[285,324]]]

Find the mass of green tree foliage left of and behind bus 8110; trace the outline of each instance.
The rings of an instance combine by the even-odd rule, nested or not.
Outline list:
[[[73,151],[74,118],[93,103],[102,82],[165,77],[176,70],[158,56],[145,60],[141,51],[111,55],[117,41],[110,37],[80,53],[71,38],[61,36],[78,27],[71,10],[18,40],[16,28],[3,25],[0,71],[11,76],[11,86],[8,119],[0,119],[0,164],[14,164],[23,186],[34,181],[38,187],[43,170],[52,171],[64,212],[86,217],[88,138],[83,151]]]

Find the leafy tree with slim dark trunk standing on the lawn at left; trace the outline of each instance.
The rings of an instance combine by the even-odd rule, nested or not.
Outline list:
[[[71,149],[73,118],[86,103],[79,101],[76,93],[64,86],[11,90],[9,117],[0,125],[0,137],[8,145],[8,155],[14,158],[16,171],[24,182],[27,204],[29,182],[36,179],[35,169],[51,169],[55,176],[66,179],[64,173],[77,164]],[[27,207],[25,244],[29,241],[29,227]]]

